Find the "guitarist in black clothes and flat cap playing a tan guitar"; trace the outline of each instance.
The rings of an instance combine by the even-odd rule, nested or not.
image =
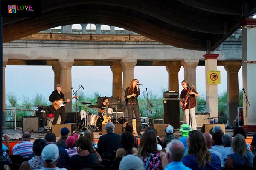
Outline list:
[[[62,85],[61,84],[57,84],[56,85],[56,90],[52,92],[52,94],[49,96],[49,101],[51,101],[52,103],[55,103],[57,105],[61,105],[60,100],[64,101],[65,97],[64,94],[61,92],[62,91]],[[67,102],[70,102],[70,99],[67,99]],[[65,104],[65,103],[63,103]],[[58,110],[56,110],[54,112],[54,120],[52,122],[52,125],[56,125],[57,121],[58,121],[58,117],[61,114],[61,124],[65,123],[66,120],[66,111],[65,111],[65,107],[61,106]]]

